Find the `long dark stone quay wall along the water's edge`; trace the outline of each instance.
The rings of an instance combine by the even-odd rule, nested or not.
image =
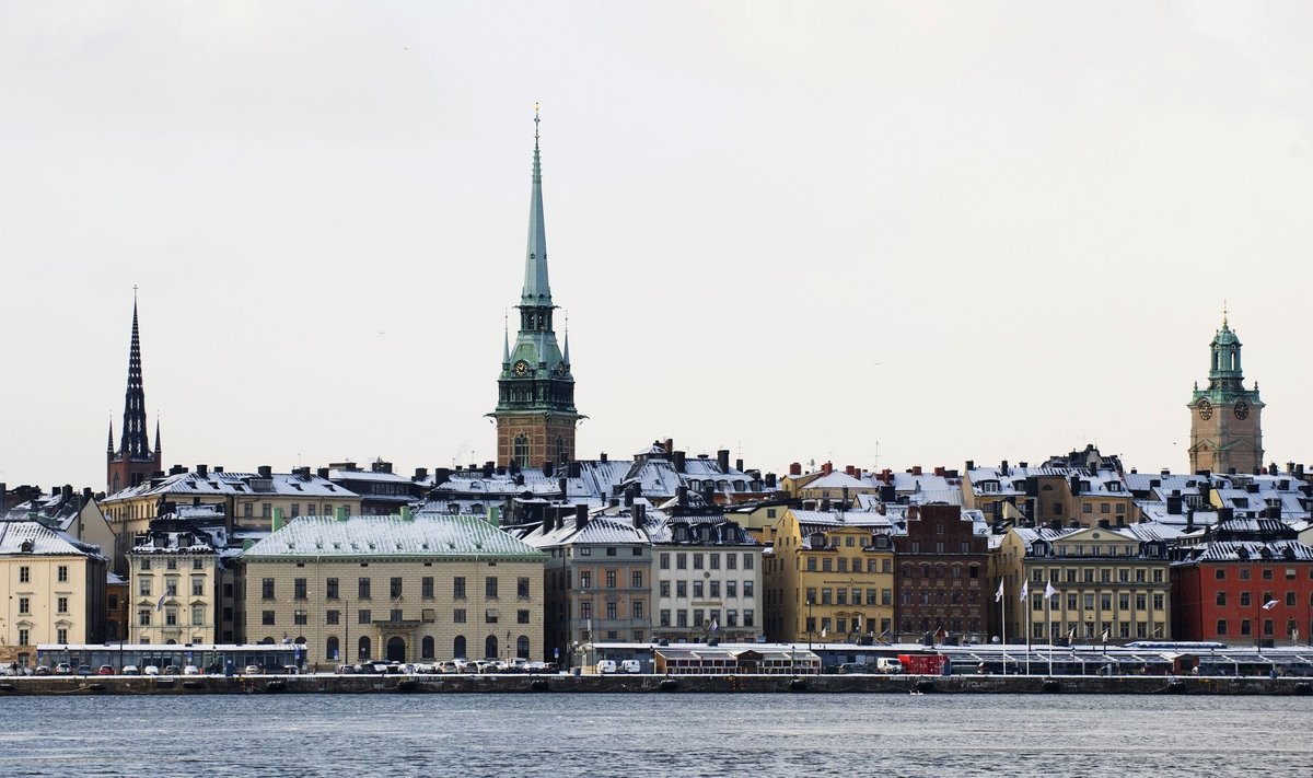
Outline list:
[[[1313,695],[1308,678],[1163,675],[198,675],[0,678],[0,698],[97,694],[1259,694]]]

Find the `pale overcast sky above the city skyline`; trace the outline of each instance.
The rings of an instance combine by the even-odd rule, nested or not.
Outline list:
[[[104,489],[134,286],[165,467],[494,459],[536,103],[582,459],[1183,472],[1225,308],[1306,463],[1310,35],[1302,1],[0,0],[0,481]]]

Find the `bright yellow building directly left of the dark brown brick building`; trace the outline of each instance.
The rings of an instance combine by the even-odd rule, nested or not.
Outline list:
[[[889,522],[867,513],[784,509],[762,530],[767,637],[859,643],[888,636],[894,619]]]

